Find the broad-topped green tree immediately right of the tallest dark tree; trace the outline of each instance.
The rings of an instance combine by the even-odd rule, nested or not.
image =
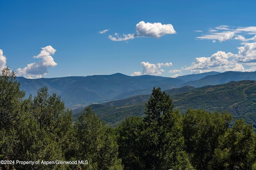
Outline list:
[[[224,137],[232,115],[217,111],[207,113],[205,110],[188,111],[183,115],[183,136],[186,152],[190,154],[195,168],[207,169],[214,156],[214,150],[219,145],[220,138]]]

